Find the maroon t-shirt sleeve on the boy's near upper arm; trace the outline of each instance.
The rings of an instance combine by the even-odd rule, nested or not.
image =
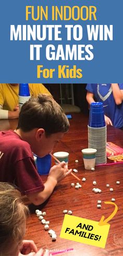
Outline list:
[[[22,194],[40,192],[44,190],[44,185],[38,174],[34,160],[31,157],[19,160],[15,165],[15,184]]]

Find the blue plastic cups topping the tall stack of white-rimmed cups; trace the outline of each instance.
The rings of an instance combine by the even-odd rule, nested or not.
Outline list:
[[[102,102],[93,102],[90,106],[89,127],[105,127],[105,118]]]

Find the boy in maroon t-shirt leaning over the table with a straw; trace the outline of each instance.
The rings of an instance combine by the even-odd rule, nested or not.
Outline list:
[[[33,153],[39,157],[49,154],[68,129],[69,121],[52,96],[31,97],[21,107],[17,129],[0,132],[0,149],[4,153],[0,181],[15,184],[33,204],[43,203],[71,169],[68,171],[65,162],[53,166],[43,184]]]

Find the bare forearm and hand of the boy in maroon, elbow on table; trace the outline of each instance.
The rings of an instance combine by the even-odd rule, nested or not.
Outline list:
[[[64,179],[67,175],[71,173],[72,169],[68,170],[66,168],[66,163],[61,162],[58,165],[54,165],[50,173],[47,177],[47,180],[44,184],[44,190],[41,192],[35,192],[28,195],[29,200],[35,204],[39,205],[46,201],[48,197],[52,194],[55,186],[57,185],[57,182]]]

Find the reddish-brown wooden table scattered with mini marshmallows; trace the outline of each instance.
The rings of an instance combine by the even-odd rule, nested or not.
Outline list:
[[[0,121],[1,129],[16,128],[17,120],[11,120],[8,122],[9,124],[7,122]],[[42,247],[54,251],[67,248],[74,249],[73,252],[59,255],[123,255],[123,164],[96,167],[94,172],[84,169],[81,150],[88,148],[87,124],[88,117],[84,117],[81,113],[72,114],[69,132],[54,149],[54,152],[69,152],[69,168],[78,169],[77,176],[79,178],[85,177],[87,180],[85,182],[80,181],[82,188],[76,190],[70,184],[71,182],[77,182],[77,180],[69,175],[56,186],[50,199],[44,204],[40,206],[30,205],[31,215],[27,220],[26,239],[33,239],[38,248]],[[107,129],[107,141],[112,141],[123,147],[123,131],[109,126]],[[75,163],[75,160],[79,160],[79,163]],[[42,179],[45,181],[46,176],[42,176]],[[96,180],[96,187],[102,189],[102,193],[96,194],[92,192],[94,187],[92,185],[93,180]],[[120,185],[116,185],[117,180],[120,180]],[[106,184],[113,187],[114,191],[110,192],[109,188],[106,188]],[[71,210],[74,216],[99,222],[102,215],[108,217],[114,211],[114,205],[104,204],[104,201],[110,201],[111,198],[116,199],[115,203],[118,206],[118,212],[109,222],[110,229],[105,249],[59,238],[64,220],[63,210]],[[101,209],[96,208],[97,200],[102,200]],[[35,209],[46,212],[46,220],[50,221],[50,229],[55,230],[57,234],[55,242],[52,242],[50,235],[44,230],[44,225],[36,217]]]

